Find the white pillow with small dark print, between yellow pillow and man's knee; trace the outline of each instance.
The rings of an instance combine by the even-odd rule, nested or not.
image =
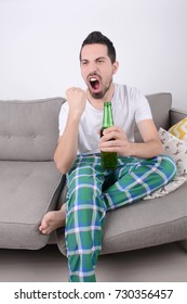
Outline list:
[[[163,144],[164,153],[172,156],[176,163],[178,174],[187,175],[187,142],[181,140],[160,128],[159,137]]]

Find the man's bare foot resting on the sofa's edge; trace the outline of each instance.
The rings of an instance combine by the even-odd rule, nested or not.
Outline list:
[[[65,226],[66,204],[59,211],[50,211],[44,216],[39,226],[39,230],[43,235],[50,235],[59,227]]]

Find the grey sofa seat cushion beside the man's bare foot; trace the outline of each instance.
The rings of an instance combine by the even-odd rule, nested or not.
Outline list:
[[[54,162],[0,161],[0,248],[40,249],[43,215],[55,207],[61,174]]]

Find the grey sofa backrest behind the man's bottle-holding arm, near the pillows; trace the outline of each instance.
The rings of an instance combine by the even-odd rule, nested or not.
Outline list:
[[[157,126],[157,129],[162,127],[168,130],[170,127],[170,110],[172,106],[172,94],[171,93],[155,93],[146,96],[148,99],[152,118]],[[142,141],[142,137],[135,127],[135,141]]]

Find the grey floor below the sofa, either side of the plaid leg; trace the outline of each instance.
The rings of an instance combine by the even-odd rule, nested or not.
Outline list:
[[[187,252],[172,243],[99,256],[101,282],[187,282]],[[56,245],[39,251],[0,249],[0,282],[67,282],[67,259]]]

